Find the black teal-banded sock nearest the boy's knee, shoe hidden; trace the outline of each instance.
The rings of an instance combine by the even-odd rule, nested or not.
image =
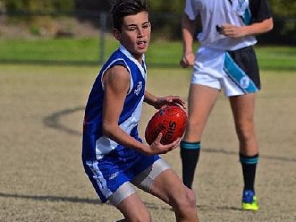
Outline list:
[[[200,142],[181,142],[181,161],[183,183],[192,188],[195,168],[200,154]]]

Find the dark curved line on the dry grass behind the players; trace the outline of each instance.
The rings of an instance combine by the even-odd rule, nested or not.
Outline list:
[[[61,110],[59,112],[56,112],[52,115],[46,116],[43,119],[43,123],[47,127],[51,127],[57,130],[64,131],[66,133],[72,134],[72,135],[79,135],[81,136],[81,132],[75,131],[73,129],[70,129],[60,123],[60,119],[64,115],[72,114],[76,111],[84,110],[84,106],[78,106],[74,108],[66,108],[64,110]],[[225,155],[238,155],[237,152],[234,151],[227,151],[224,149],[216,149],[216,148],[202,148],[202,152],[207,153],[221,153]],[[269,156],[269,155],[260,155],[260,158],[269,159],[269,160],[278,160],[278,161],[285,161],[285,162],[296,162],[296,158],[288,158],[288,157],[281,157],[281,156]]]

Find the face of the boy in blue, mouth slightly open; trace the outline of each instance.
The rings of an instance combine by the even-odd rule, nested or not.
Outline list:
[[[150,41],[150,22],[147,12],[123,18],[122,31],[113,31],[115,38],[138,60],[147,51]]]

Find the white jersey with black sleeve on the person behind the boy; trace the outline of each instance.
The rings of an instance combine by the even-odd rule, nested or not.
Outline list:
[[[202,31],[197,35],[200,44],[221,50],[237,50],[257,43],[253,36],[221,35],[219,28],[223,24],[244,26],[271,17],[266,0],[186,0],[185,14],[190,20],[200,16]]]

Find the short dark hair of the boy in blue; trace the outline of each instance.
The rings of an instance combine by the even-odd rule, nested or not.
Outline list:
[[[123,17],[147,11],[146,0],[115,0],[111,9],[113,27],[121,32]]]

